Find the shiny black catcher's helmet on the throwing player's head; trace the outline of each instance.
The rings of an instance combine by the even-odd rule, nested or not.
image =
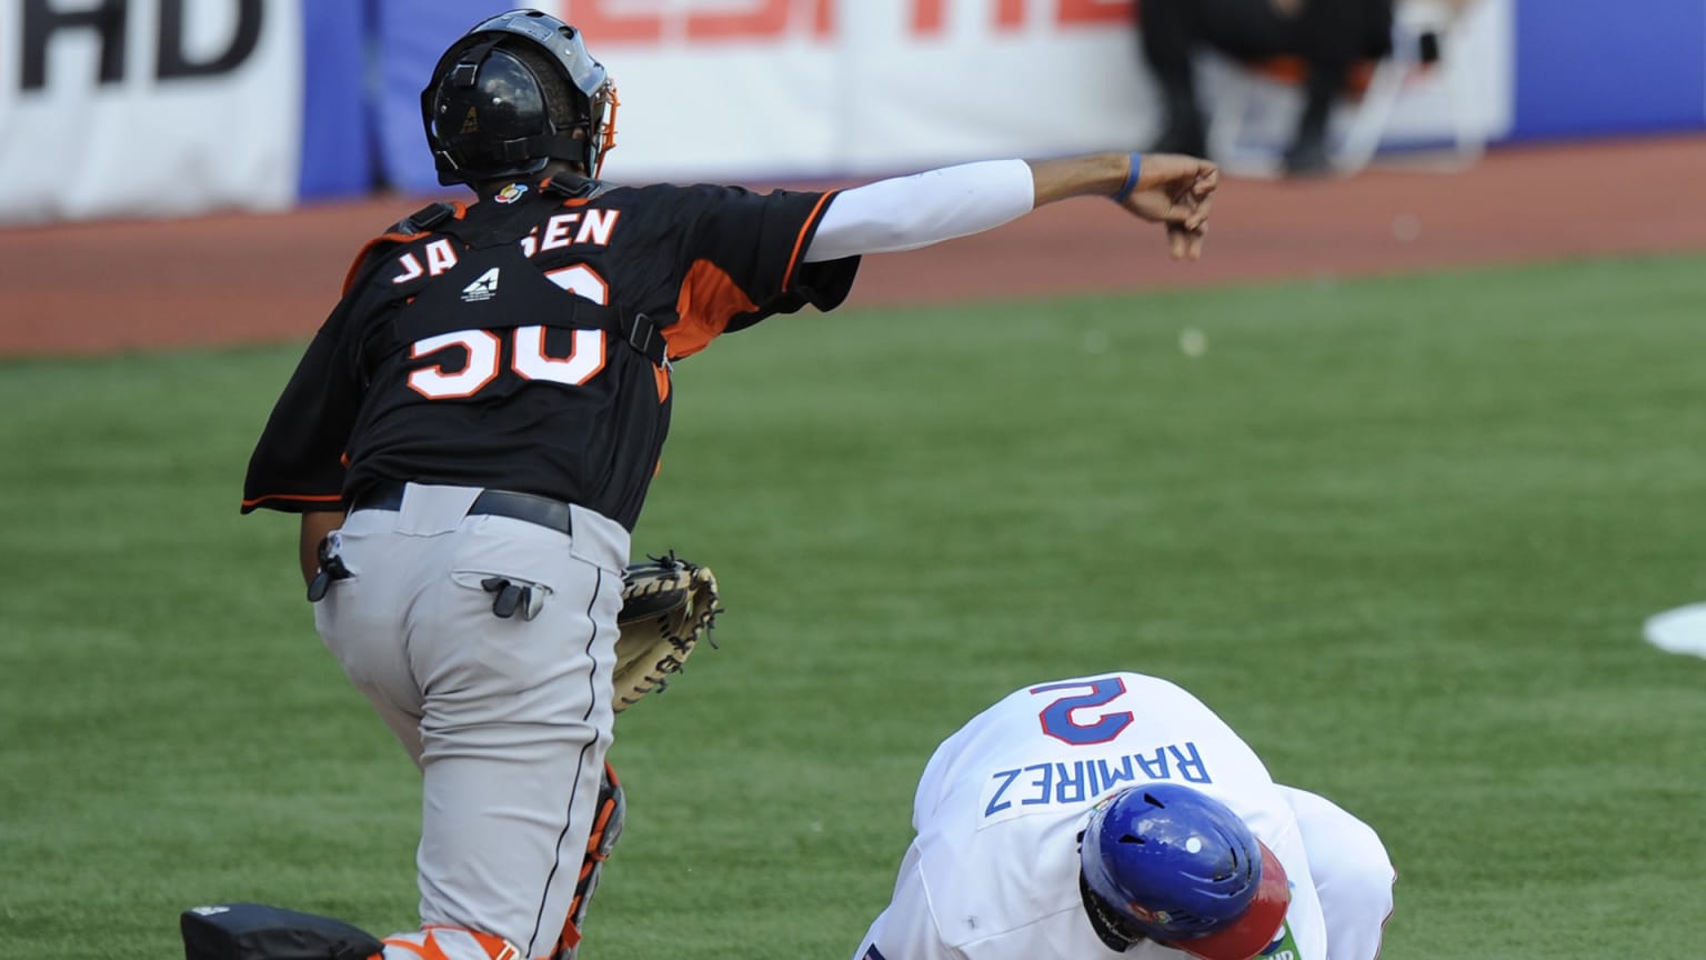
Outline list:
[[[553,159],[599,176],[616,145],[616,87],[580,31],[537,10],[481,20],[421,91],[438,183],[525,176]]]

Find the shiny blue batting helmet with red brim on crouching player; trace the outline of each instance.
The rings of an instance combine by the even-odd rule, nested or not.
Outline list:
[[[1291,890],[1266,844],[1218,799],[1146,784],[1104,799],[1083,878],[1121,919],[1203,960],[1249,960],[1280,934]]]

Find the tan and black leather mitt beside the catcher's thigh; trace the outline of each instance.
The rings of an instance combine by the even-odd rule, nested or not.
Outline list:
[[[711,639],[717,606],[717,577],[710,567],[689,564],[674,550],[630,564],[623,584],[623,612],[616,617],[616,712],[667,685],[670,673],[688,663],[698,642]]]

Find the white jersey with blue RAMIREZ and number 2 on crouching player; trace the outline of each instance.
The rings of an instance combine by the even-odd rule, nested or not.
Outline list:
[[[1242,817],[1291,881],[1290,941],[1268,960],[1329,960],[1286,796],[1208,705],[1138,673],[1027,687],[937,748],[894,899],[855,960],[1184,958],[1150,941],[1109,950],[1080,900],[1078,834],[1090,808],[1145,782],[1189,786]]]

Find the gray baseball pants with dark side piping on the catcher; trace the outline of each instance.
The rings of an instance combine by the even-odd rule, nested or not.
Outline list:
[[[630,536],[580,507],[570,535],[469,516],[479,492],[409,483],[397,511],[351,511],[333,535],[351,576],[314,622],[421,769],[425,933],[406,940],[449,928],[430,953],[491,960],[478,941],[502,938],[531,960],[563,933],[592,828]],[[534,603],[498,617],[493,579]]]

